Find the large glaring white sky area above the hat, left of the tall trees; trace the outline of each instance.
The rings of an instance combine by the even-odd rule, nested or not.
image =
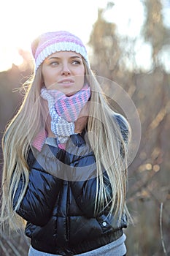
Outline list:
[[[87,44],[97,19],[97,10],[98,5],[93,1],[90,5],[82,4],[79,0],[3,1],[0,15],[0,23],[4,24],[0,27],[0,72],[12,67],[12,62],[21,64],[23,59],[16,53],[16,48],[31,51],[33,39],[46,31],[67,30],[77,34]]]

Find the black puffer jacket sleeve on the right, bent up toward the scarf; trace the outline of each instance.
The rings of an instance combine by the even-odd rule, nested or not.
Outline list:
[[[120,126],[125,143],[128,143],[128,122],[117,114],[115,116]],[[72,135],[72,154],[66,153],[66,159],[70,166],[74,168],[72,181],[70,181],[72,192],[77,205],[87,217],[95,217],[96,188],[98,179],[96,178],[96,158],[89,144],[85,142],[81,135]],[[71,143],[69,141],[69,143]],[[68,144],[69,147],[69,144]],[[70,146],[71,147],[71,146]],[[112,189],[109,183],[106,170],[103,168],[104,186],[107,188],[108,200],[112,197]],[[101,208],[101,214],[108,211],[109,207]]]

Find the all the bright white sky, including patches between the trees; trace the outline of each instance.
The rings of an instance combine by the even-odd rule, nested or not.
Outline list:
[[[166,1],[166,0],[163,0]],[[115,5],[105,13],[105,18],[117,24],[117,33],[136,37],[144,22],[140,0],[115,0]],[[14,64],[21,64],[18,48],[31,50],[31,42],[46,31],[67,30],[88,44],[98,7],[106,7],[107,0],[1,0],[0,8],[0,72]],[[139,42],[141,65],[148,64],[150,46]],[[147,58],[142,56],[148,52]]]

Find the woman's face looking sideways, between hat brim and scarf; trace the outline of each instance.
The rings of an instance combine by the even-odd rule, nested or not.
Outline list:
[[[42,64],[42,78],[47,89],[72,95],[82,89],[85,67],[82,56],[72,51],[60,51],[48,56]]]

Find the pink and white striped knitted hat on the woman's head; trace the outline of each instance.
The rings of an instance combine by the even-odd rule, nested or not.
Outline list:
[[[79,37],[76,37],[68,31],[55,31],[41,34],[32,42],[31,48],[35,59],[35,71],[42,62],[45,61],[47,56],[59,51],[80,53],[90,66],[85,45],[83,45]]]

